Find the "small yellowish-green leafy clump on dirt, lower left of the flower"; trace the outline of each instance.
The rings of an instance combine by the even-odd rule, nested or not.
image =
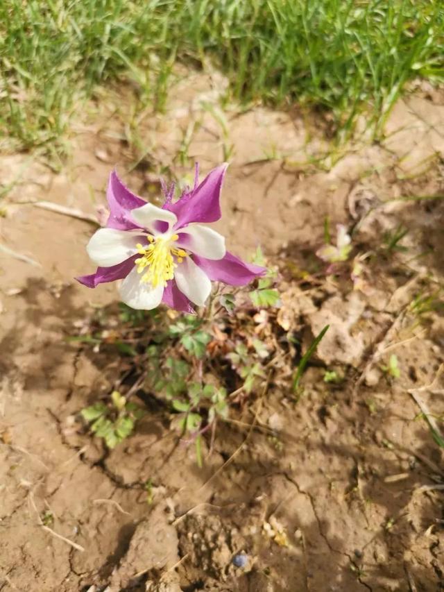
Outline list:
[[[119,391],[113,391],[110,405],[99,401],[82,409],[80,414],[89,423],[89,429],[97,437],[104,439],[108,448],[115,448],[130,436],[144,411],[135,403],[127,401]]]

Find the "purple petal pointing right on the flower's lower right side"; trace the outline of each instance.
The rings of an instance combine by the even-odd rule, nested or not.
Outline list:
[[[228,251],[225,257],[219,260],[205,259],[205,257],[198,257],[198,255],[193,255],[193,259],[205,271],[210,280],[231,286],[245,286],[266,273],[265,267],[245,263]]]

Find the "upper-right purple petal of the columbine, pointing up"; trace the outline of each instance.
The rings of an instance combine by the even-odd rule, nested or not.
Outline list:
[[[182,228],[190,222],[215,222],[221,217],[219,197],[225,171],[228,164],[221,164],[210,171],[205,179],[190,192],[176,201],[167,203],[164,208],[174,212],[178,217],[176,228]]]

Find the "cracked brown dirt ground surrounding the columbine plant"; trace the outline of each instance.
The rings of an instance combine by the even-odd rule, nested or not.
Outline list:
[[[29,155],[0,158],[11,186],[0,242],[13,251],[0,251],[2,592],[444,590],[443,454],[418,417],[418,400],[444,413],[444,325],[434,307],[411,309],[443,282],[444,208],[433,197],[444,192],[444,95],[417,88],[396,105],[384,142],[339,152],[298,112],[217,111],[221,90],[223,80],[192,74],[166,115],[133,126],[122,123],[123,91],[92,102],[60,171]],[[114,164],[155,197],[153,171],[181,176],[196,159],[207,172],[225,158],[217,228],[230,250],[261,244],[280,267],[281,327],[305,344],[330,330],[298,402],[277,373],[219,429],[202,469],[155,405],[107,451],[78,412],[112,391],[121,360],[67,337],[98,307],[114,310],[117,292],[73,280],[92,271],[94,226],[33,202],[95,216]],[[360,253],[402,224],[407,251],[373,258],[362,291],[329,276],[307,288],[298,273],[327,216],[354,230]],[[391,353],[397,380],[381,370]],[[324,382],[325,369],[344,380]],[[232,562],[239,553],[244,567]]]

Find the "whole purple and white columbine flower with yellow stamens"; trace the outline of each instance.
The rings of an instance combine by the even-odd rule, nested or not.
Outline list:
[[[228,253],[224,237],[203,224],[221,217],[226,168],[213,169],[199,185],[196,165],[194,188],[185,189],[173,203],[173,187],[164,187],[162,208],[135,196],[113,171],[107,191],[110,217],[87,245],[99,267],[78,281],[95,288],[123,279],[120,296],[130,307],[151,310],[163,302],[193,313],[193,304],[205,304],[212,280],[242,286],[262,276],[263,267]]]

